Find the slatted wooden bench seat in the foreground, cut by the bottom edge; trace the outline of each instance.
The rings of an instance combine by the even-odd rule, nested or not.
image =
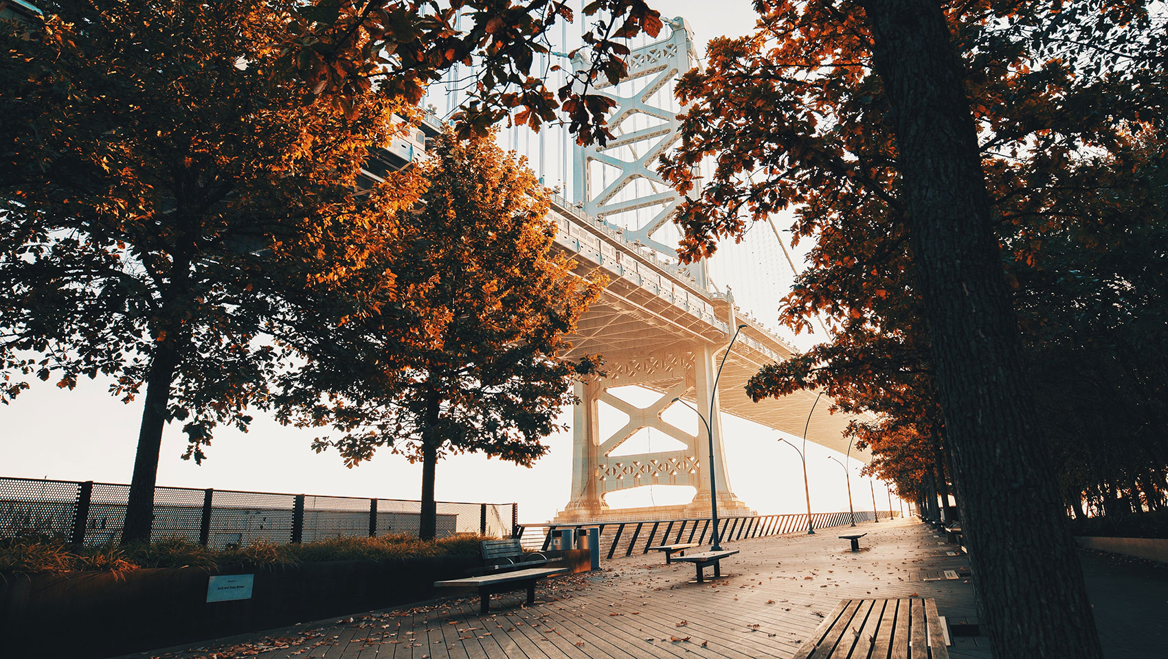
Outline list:
[[[932,597],[843,600],[794,659],[948,659]]]

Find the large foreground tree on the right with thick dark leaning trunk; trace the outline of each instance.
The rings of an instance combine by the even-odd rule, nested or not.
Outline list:
[[[1164,134],[1163,16],[1142,2],[1103,12],[1089,2],[756,8],[753,35],[716,40],[705,68],[684,77],[679,93],[693,106],[681,149],[662,166],[688,191],[693,167],[715,163],[712,180],[681,210],[689,258],[787,209],[795,236],[815,239],[783,316],[802,328],[821,314],[832,341],[764,369],[750,394],[822,386],[840,409],[876,412],[876,423],[851,429],[876,451],[872,469],[902,492],[919,491],[930,474],[944,481],[936,460],[944,453],[971,538],[987,542],[974,548],[975,561],[997,574],[1063,566],[1050,576],[1076,602],[1062,622],[1007,622],[983,609],[995,651],[1030,643],[1010,629],[1077,633],[1089,614],[1072,551],[1007,556],[988,544],[1000,541],[997,531],[1026,527],[1069,545],[1044,421],[1065,412],[1068,388],[1091,386],[1085,379],[1132,397],[1126,407],[1141,414],[1121,432],[1142,436],[1140,464],[1160,456],[1163,474],[1156,444],[1164,429],[1149,414],[1163,409],[1152,384],[1162,332],[1146,331],[1143,318],[1162,318],[1153,299],[1164,254],[1142,243],[1163,230],[1152,201],[1163,194],[1154,183]],[[1125,246],[1138,262],[1120,273],[1104,254]],[[1121,338],[1153,358],[1122,374],[1106,348]],[[1063,420],[1052,426],[1079,425]],[[1076,455],[1091,433],[1076,430],[1051,439]],[[990,519],[990,510],[1004,510],[1004,519]],[[1040,588],[980,581],[988,607]],[[1072,645],[1071,653],[1097,656],[1093,638]]]

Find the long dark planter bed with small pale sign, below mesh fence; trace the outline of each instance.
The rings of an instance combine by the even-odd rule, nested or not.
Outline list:
[[[558,554],[573,573],[589,568],[586,551]],[[7,576],[0,638],[5,657],[110,657],[420,602],[438,595],[434,581],[481,565],[457,555]],[[207,602],[210,576],[239,574],[255,575],[250,598]]]

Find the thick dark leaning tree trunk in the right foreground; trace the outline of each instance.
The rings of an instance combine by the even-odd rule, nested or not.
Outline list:
[[[1101,656],[1062,497],[1030,427],[1021,339],[941,6],[868,0],[961,517],[999,659]]]

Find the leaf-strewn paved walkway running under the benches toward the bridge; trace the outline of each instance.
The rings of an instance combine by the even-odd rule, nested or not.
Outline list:
[[[496,595],[492,611],[480,617],[477,597],[447,598],[126,659],[787,658],[843,598],[934,597],[951,624],[975,622],[967,563],[944,538],[912,520],[865,523],[858,528],[868,532],[864,551],[854,554],[837,538],[848,531],[728,544],[741,553],[724,560],[721,579],[703,584],[693,583],[691,565],[665,566],[652,553],[545,582],[534,607],[523,605],[523,593]],[[1093,594],[1104,587],[1108,612],[1099,624],[1108,658],[1168,657],[1162,636],[1168,615],[1153,619],[1156,603],[1168,600],[1168,569],[1161,584],[1148,582],[1155,569],[1145,565],[1092,556],[1085,565]],[[1118,589],[1111,588],[1114,579]],[[1120,607],[1129,601],[1122,589],[1135,586],[1131,580],[1141,580],[1139,588],[1148,594],[1138,601],[1138,617]],[[1133,638],[1133,628],[1142,635]],[[954,659],[989,659],[985,638],[952,640]]]

